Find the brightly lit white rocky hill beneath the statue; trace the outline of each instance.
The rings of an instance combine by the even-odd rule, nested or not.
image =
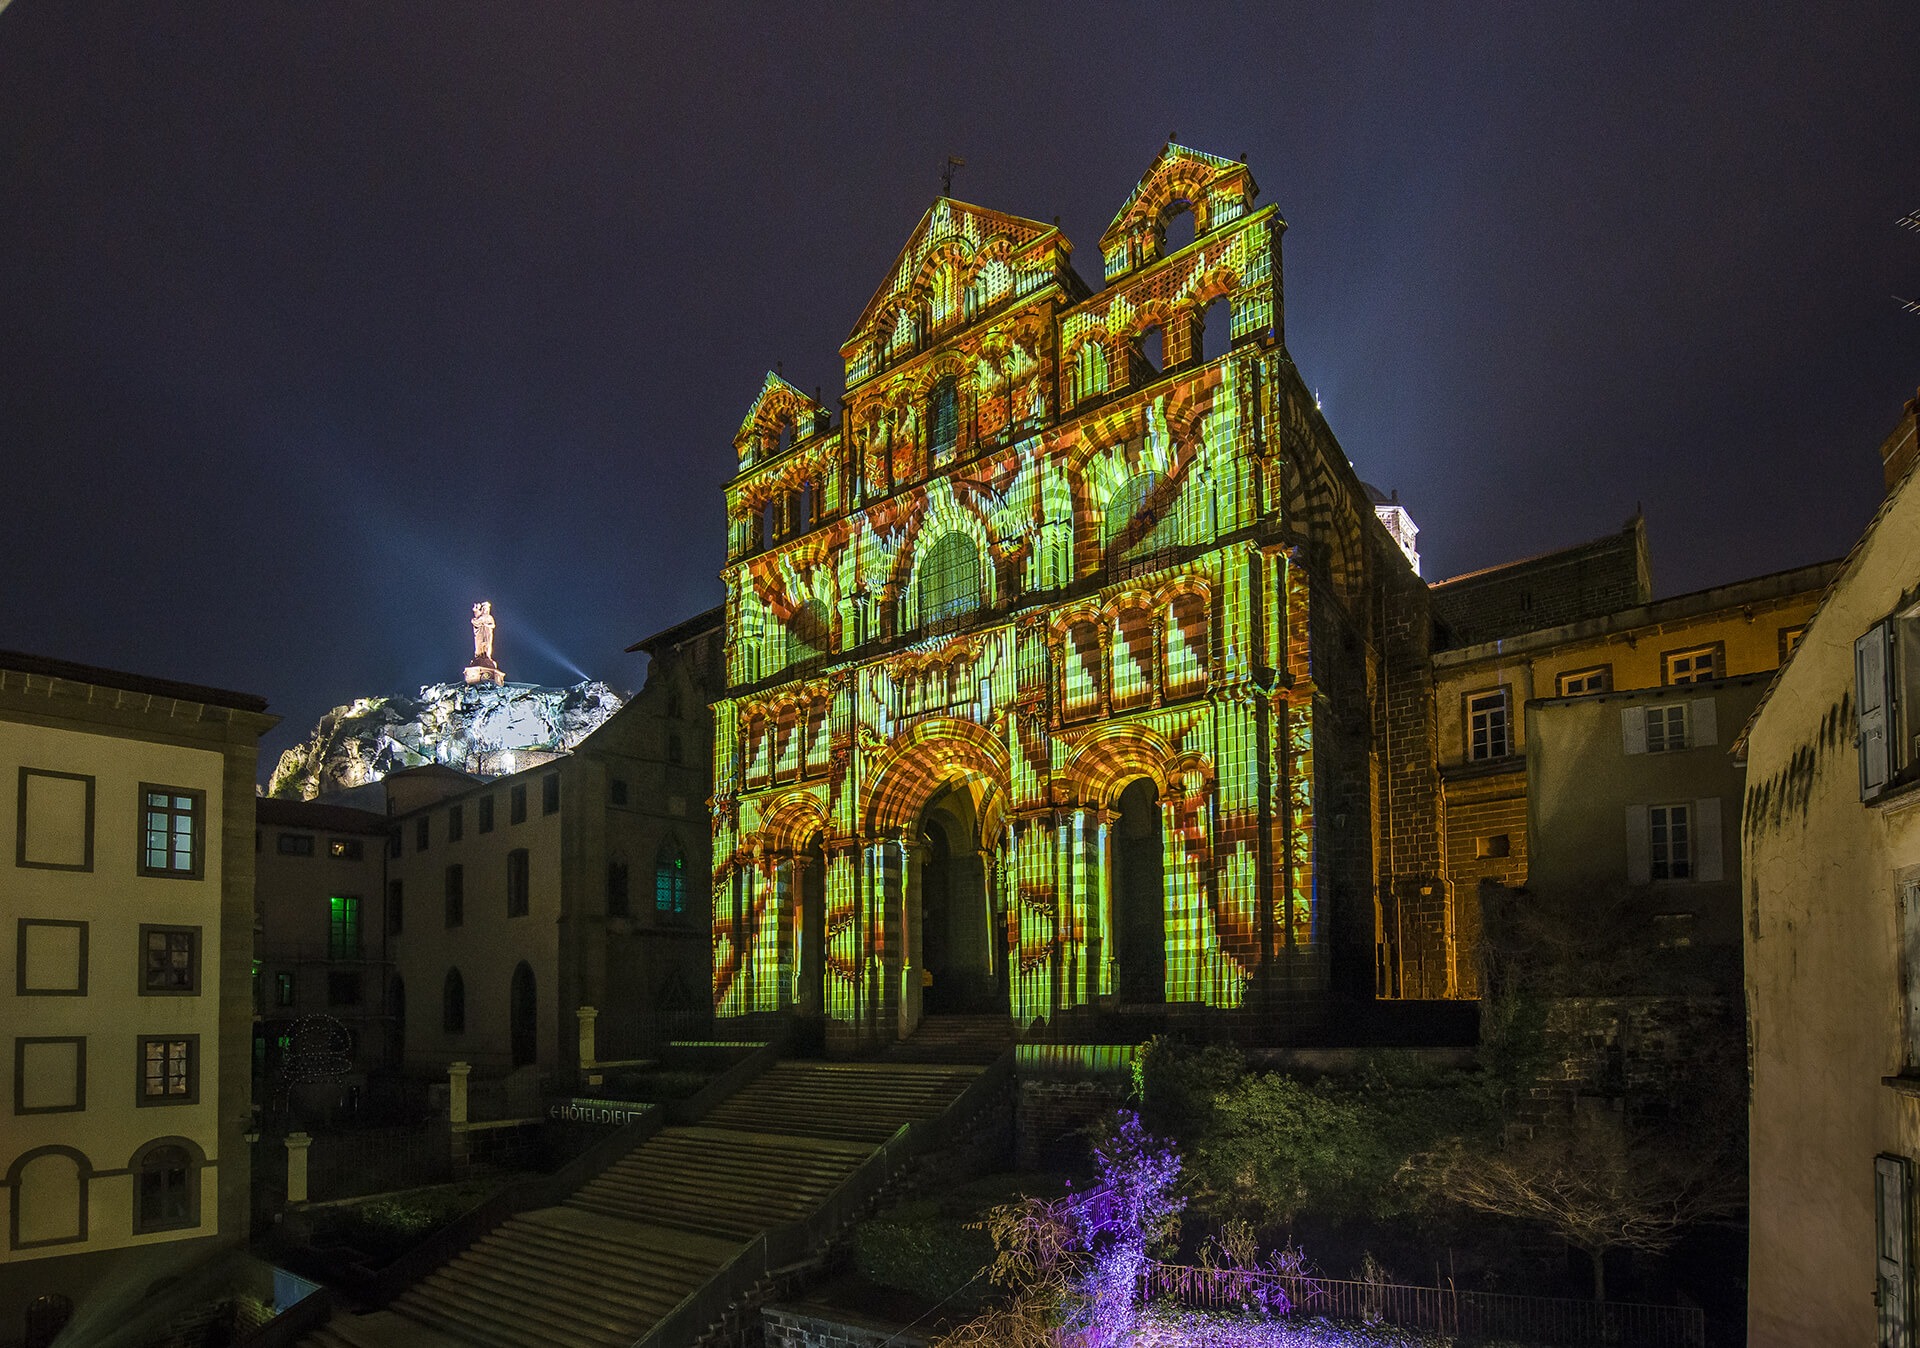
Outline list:
[[[518,772],[566,753],[626,703],[599,680],[428,684],[419,697],[359,697],[321,716],[313,737],[280,755],[267,795],[311,801],[438,762],[476,776]]]

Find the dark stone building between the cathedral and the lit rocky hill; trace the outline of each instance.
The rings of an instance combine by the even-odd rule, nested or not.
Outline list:
[[[444,780],[394,812],[384,1004],[411,1071],[467,1062],[570,1085],[582,1056],[630,1060],[705,1031],[712,787],[699,747],[718,622],[707,613],[637,643],[645,687],[570,753]]]

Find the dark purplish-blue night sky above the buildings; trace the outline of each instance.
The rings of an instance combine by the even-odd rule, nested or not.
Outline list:
[[[1663,595],[1837,557],[1920,384],[1916,56],[1912,0],[13,0],[0,647],[261,693],[263,772],[476,599],[509,678],[632,687],[945,156],[1094,277],[1169,131],[1286,217],[1428,578],[1636,503]]]

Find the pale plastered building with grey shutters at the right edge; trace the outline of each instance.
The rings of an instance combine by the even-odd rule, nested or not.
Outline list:
[[[1920,480],[1887,495],[1740,739],[1749,1338],[1910,1344],[1920,1156]]]

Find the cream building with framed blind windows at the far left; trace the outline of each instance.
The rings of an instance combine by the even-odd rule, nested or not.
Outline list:
[[[0,653],[0,1340],[92,1342],[246,1239],[265,707]]]

